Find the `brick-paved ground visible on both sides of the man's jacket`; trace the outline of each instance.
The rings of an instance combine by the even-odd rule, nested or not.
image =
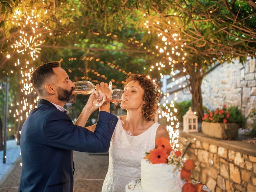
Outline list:
[[[101,192],[108,171],[108,155],[74,152],[74,192]],[[0,192],[17,192],[20,181],[20,162],[0,186]]]

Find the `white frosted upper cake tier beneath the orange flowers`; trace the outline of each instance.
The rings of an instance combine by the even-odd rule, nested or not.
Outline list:
[[[180,172],[168,164],[151,164],[141,160],[141,186],[146,192],[179,192],[184,185]]]

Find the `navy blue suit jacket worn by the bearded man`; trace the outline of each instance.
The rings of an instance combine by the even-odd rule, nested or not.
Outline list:
[[[73,151],[107,152],[118,118],[99,112],[94,132],[76,126],[47,100],[39,100],[22,126],[18,192],[72,192]]]

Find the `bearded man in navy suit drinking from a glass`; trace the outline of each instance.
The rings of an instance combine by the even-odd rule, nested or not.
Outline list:
[[[66,102],[74,103],[74,84],[59,62],[38,66],[31,83],[40,100],[22,126],[22,172],[18,192],[72,192],[73,151],[107,152],[118,118],[109,113],[110,102],[100,107],[94,132],[84,128],[90,114],[98,107],[90,95],[80,116],[73,124]],[[107,95],[108,84],[96,86]]]

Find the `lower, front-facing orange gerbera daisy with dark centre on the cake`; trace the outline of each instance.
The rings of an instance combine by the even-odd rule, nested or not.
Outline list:
[[[164,148],[156,148],[154,150],[151,150],[150,154],[148,155],[148,159],[152,164],[166,163],[167,158],[168,154],[166,149]]]

